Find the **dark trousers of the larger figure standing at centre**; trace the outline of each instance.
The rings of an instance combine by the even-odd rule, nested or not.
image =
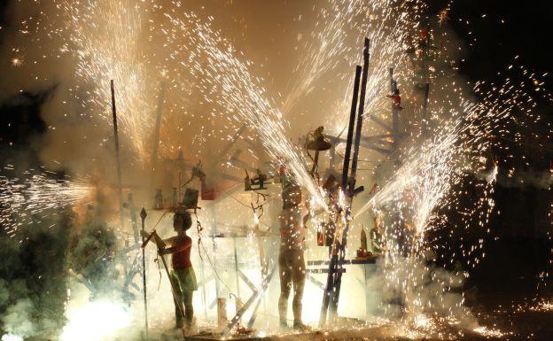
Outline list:
[[[278,315],[280,322],[286,323],[288,313],[288,298],[290,291],[294,290],[292,300],[292,312],[294,322],[301,322],[301,299],[305,285],[306,269],[301,250],[281,250],[278,256],[278,269],[280,271],[280,298],[278,298]]]

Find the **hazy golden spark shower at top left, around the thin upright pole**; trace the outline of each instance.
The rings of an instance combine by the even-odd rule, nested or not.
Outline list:
[[[147,51],[141,44],[144,9],[131,2],[107,0],[75,6],[69,1],[62,8],[78,59],[75,74],[82,77],[81,86],[88,85],[92,92],[83,106],[103,112],[102,117],[111,122],[109,81],[113,80],[121,128],[144,156],[144,143],[154,123],[156,83],[148,74]]]

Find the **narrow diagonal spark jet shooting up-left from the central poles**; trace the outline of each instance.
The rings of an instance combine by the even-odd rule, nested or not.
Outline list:
[[[222,117],[247,122],[255,128],[270,159],[277,166],[287,167],[316,202],[323,205],[323,193],[308,174],[300,148],[286,135],[282,113],[268,98],[261,79],[249,72],[249,63],[238,58],[238,52],[212,29],[210,22],[202,22],[193,13],[186,14],[185,20],[166,15],[177,32],[195,34],[179,48],[175,58],[180,55],[192,74],[205,82],[201,89],[206,91],[207,98],[224,108]]]

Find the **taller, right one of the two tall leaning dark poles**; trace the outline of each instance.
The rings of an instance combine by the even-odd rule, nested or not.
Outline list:
[[[344,260],[346,259],[346,245],[347,245],[347,232],[349,231],[349,216],[351,213],[351,205],[353,201],[353,192],[354,192],[354,186],[355,186],[355,176],[357,174],[357,159],[359,158],[359,144],[361,142],[361,130],[362,130],[362,119],[363,119],[363,113],[365,111],[365,94],[367,90],[367,78],[369,75],[369,47],[370,47],[370,40],[369,38],[365,38],[365,45],[363,48],[363,68],[362,68],[362,81],[361,81],[361,93],[359,97],[359,110],[357,112],[357,124],[355,126],[355,142],[354,142],[354,159],[352,159],[352,169],[351,169],[351,188],[349,189],[349,203],[348,207],[346,208],[346,226],[344,230],[342,231],[342,240],[339,247],[339,261],[338,261],[338,269],[339,271],[336,273],[336,280],[334,283],[334,293],[332,295],[332,302],[331,302],[331,311],[332,313],[338,312],[338,301],[339,301],[339,293],[340,288],[342,286],[342,267]]]

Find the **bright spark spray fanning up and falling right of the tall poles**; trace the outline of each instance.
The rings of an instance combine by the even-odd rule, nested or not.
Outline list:
[[[501,132],[513,121],[520,124],[518,112],[524,112],[530,120],[539,120],[531,113],[534,99],[524,89],[513,87],[509,79],[487,92],[480,87],[478,83],[474,90],[485,94],[482,102],[465,100],[459,105],[461,110],[448,104],[438,106],[435,112],[448,111],[449,114],[436,117],[450,119],[434,119],[432,137],[427,139],[423,135],[420,141],[414,141],[413,147],[402,151],[402,164],[391,180],[354,215],[359,217],[370,208],[377,213],[391,213],[392,222],[386,226],[386,235],[391,242],[388,252],[392,261],[386,267],[386,285],[403,293],[403,303],[409,313],[404,319],[415,329],[418,329],[417,316],[421,314],[439,313],[453,321],[469,314],[463,308],[462,297],[449,295],[451,298],[445,298],[462,282],[455,276],[444,277],[436,269],[424,265],[426,252],[448,247],[444,241],[432,240],[426,235],[437,229],[442,229],[441,236],[447,236],[456,229],[484,230],[487,227],[495,205],[492,194],[499,172],[497,161],[484,156],[491,153],[492,132]],[[495,147],[500,145],[496,143]],[[472,203],[462,199],[461,189],[467,183],[479,193],[478,200]],[[461,214],[458,225],[450,214],[444,214],[447,212]],[[408,246],[401,246],[400,240]],[[466,259],[467,266],[475,267],[485,257],[482,240],[461,249],[460,256]],[[407,259],[401,257],[406,252]],[[451,263],[453,261],[451,259]],[[442,300],[432,299],[432,294]],[[482,333],[487,331],[482,329]]]

